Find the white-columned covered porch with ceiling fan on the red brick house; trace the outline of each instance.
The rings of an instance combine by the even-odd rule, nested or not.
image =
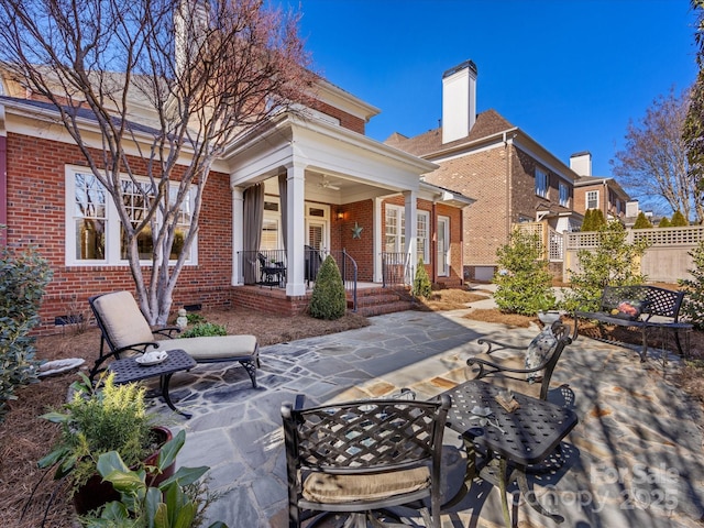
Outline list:
[[[460,210],[472,200],[424,183],[433,164],[294,114],[239,141],[226,160],[235,290],[256,285],[292,300],[305,297],[328,254],[349,290],[352,283],[409,284],[418,256],[449,275],[449,229],[438,237],[436,216],[419,218],[418,206]],[[452,267],[461,279],[461,262]]]

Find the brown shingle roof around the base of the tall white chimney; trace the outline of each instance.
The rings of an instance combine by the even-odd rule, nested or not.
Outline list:
[[[384,141],[384,143],[408,152],[409,154],[422,157],[433,152],[438,152],[441,148],[470,143],[514,128],[515,127],[503,116],[492,109],[486,110],[476,117],[476,122],[474,123],[474,127],[472,127],[468,136],[450,143],[442,143],[442,128],[429,130],[428,132],[414,138],[406,138],[398,132],[394,132]]]

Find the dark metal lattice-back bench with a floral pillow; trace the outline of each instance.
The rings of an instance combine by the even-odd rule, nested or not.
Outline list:
[[[679,321],[683,300],[684,292],[673,292],[657,286],[606,286],[602,293],[598,311],[574,311],[572,338],[573,340],[578,338],[579,319],[640,329],[642,336],[640,361],[642,362],[646,361],[648,353],[648,331],[670,330],[674,336],[680,355],[685,355],[680,341],[680,331],[691,331],[692,324]]]

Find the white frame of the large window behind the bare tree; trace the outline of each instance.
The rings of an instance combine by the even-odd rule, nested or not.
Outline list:
[[[65,200],[65,263],[67,266],[125,266],[129,264],[127,258],[121,257],[120,243],[120,217],[118,215],[118,208],[112,201],[112,197],[106,193],[106,246],[105,258],[78,258],[76,257],[76,220],[81,218],[76,215],[76,175],[84,174],[88,177],[94,177],[90,169],[87,167],[79,167],[67,165],[65,168],[65,182],[66,182],[66,200]],[[121,175],[121,178],[129,179],[128,175]],[[136,178],[138,183],[148,184],[148,178]],[[179,183],[174,182],[172,187],[178,187]],[[196,187],[191,186],[188,209],[194,210]],[[169,260],[175,263],[175,260]],[[141,258],[140,264],[144,266],[152,265],[152,260]],[[186,260],[185,265],[194,266],[198,265],[198,238],[194,240],[190,246],[190,256]]]

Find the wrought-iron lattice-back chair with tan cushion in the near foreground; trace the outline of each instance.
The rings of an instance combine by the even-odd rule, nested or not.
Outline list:
[[[440,402],[369,399],[302,409],[284,404],[288,526],[308,527],[331,513],[363,528],[387,508],[418,509],[425,526],[440,528],[440,459],[450,398]],[[430,512],[425,499],[430,498]],[[383,512],[383,513],[382,513]]]

